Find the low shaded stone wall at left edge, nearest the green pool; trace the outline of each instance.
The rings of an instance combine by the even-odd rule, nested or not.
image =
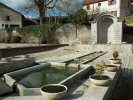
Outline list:
[[[1,62],[0,74],[27,68],[33,64],[35,64],[35,58],[22,58],[19,60],[13,60],[11,62]]]

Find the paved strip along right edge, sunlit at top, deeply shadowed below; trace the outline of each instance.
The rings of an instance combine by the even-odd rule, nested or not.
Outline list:
[[[133,100],[133,54],[126,55],[125,59],[112,100]]]

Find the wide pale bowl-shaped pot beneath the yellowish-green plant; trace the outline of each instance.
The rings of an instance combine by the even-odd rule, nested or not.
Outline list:
[[[101,75],[101,78],[99,75],[91,75],[89,78],[93,84],[98,86],[107,86],[111,81],[111,79],[106,75]]]

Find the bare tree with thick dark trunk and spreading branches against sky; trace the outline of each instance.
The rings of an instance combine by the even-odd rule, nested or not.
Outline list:
[[[54,8],[57,1],[58,0],[28,0],[27,5],[24,5],[23,8],[26,12],[36,9],[39,13],[40,24],[42,24],[47,10]]]

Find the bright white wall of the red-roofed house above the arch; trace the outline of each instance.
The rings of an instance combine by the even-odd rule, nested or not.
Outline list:
[[[109,5],[108,1],[99,2],[101,6],[98,6],[98,3],[90,4],[90,10],[87,10],[87,6],[83,6],[83,9],[88,12],[88,15],[106,12],[106,11],[117,11],[117,17],[125,17],[129,14],[129,8],[127,7],[130,0],[116,0],[115,5]]]

